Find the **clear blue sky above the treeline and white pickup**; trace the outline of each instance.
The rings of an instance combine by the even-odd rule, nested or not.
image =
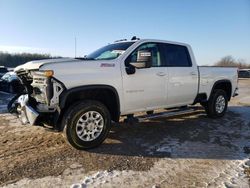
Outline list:
[[[198,64],[250,63],[250,0],[0,0],[0,51],[83,56],[117,39],[189,43]]]

